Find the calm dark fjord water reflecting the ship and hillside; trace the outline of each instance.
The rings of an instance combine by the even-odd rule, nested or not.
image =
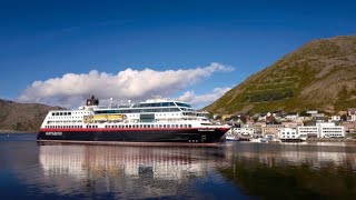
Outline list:
[[[0,134],[4,199],[354,199],[355,143],[37,143]]]

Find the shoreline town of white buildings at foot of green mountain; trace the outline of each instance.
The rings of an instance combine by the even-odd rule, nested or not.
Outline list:
[[[233,128],[227,140],[237,141],[356,141],[356,108],[327,116],[318,110],[256,114],[214,114],[216,123]]]

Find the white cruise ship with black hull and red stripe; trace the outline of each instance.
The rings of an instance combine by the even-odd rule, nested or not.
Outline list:
[[[95,96],[77,110],[52,110],[38,141],[123,144],[211,144],[229,126],[212,124],[207,112],[162,98],[140,103],[99,106]]]

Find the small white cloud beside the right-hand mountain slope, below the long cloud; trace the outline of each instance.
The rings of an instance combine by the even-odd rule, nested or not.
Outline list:
[[[202,108],[219,99],[221,96],[224,96],[224,93],[226,93],[231,88],[229,87],[215,88],[212,92],[201,96],[196,96],[194,91],[186,91],[182,96],[178,98],[178,100],[188,102],[196,108]]]

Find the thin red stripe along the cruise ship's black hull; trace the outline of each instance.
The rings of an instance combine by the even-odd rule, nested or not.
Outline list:
[[[92,131],[175,131],[175,130],[207,130],[207,131],[211,131],[211,130],[221,130],[221,131],[228,131],[229,129],[227,128],[125,128],[125,129],[120,129],[120,128],[44,128],[44,129],[40,129],[40,131],[44,131],[44,132],[58,132],[58,131],[69,131],[69,132],[92,132]]]

